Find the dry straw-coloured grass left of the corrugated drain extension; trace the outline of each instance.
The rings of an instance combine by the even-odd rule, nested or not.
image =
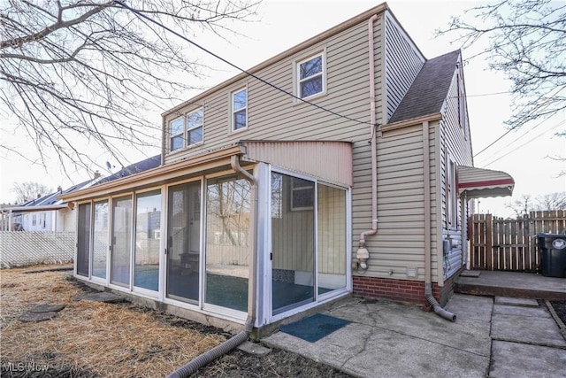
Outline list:
[[[54,368],[71,366],[103,377],[155,377],[171,373],[222,343],[218,334],[174,327],[128,305],[76,301],[83,291],[65,272],[0,272],[0,360]],[[19,316],[39,304],[65,305],[38,323]]]

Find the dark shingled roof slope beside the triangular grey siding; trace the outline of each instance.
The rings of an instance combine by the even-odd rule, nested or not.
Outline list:
[[[423,68],[388,123],[440,112],[459,58],[460,50],[455,50],[424,62]]]

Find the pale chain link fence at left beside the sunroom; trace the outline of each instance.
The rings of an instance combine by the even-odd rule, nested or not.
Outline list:
[[[0,231],[0,267],[73,261],[74,232]]]

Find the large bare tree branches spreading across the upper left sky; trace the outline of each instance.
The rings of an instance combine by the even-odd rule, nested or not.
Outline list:
[[[62,166],[94,170],[96,162],[81,145],[96,145],[118,161],[126,159],[123,143],[158,145],[161,127],[148,112],[171,106],[204,67],[195,48],[137,12],[181,35],[208,31],[225,38],[235,33],[233,22],[250,19],[257,5],[123,2],[134,12],[111,0],[0,0],[0,113],[25,130],[38,156],[5,140],[0,150],[43,165],[46,152],[56,151]]]

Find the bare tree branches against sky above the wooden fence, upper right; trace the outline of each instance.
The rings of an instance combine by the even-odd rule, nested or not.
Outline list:
[[[547,120],[566,109],[566,4],[552,0],[498,0],[481,3],[454,17],[438,35],[459,35],[470,48],[479,40],[493,70],[512,82],[513,115],[509,127]]]

